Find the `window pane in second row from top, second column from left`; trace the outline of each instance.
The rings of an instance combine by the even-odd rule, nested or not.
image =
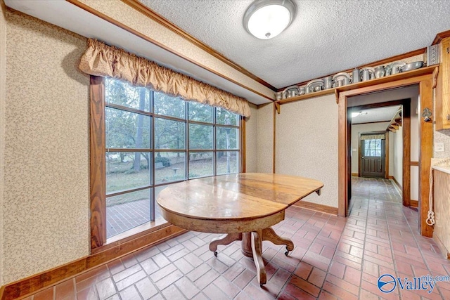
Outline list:
[[[186,123],[155,118],[155,149],[185,149]]]

